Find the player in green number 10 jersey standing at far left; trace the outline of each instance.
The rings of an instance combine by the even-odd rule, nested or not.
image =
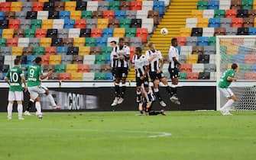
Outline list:
[[[24,120],[22,117],[22,101],[23,101],[23,89],[22,83],[24,84],[24,91],[27,91],[26,80],[24,78],[24,72],[20,68],[21,60],[15,59],[15,66],[8,70],[7,75],[5,76],[5,82],[8,82],[10,85],[8,93],[8,120],[11,120],[12,106],[15,101],[18,104],[18,120]]]

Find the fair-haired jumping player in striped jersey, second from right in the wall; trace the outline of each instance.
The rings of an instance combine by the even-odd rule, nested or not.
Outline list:
[[[166,88],[167,92],[171,95],[171,89],[168,85],[167,78],[165,77],[164,73],[162,72],[164,66],[164,58],[159,50],[156,50],[154,43],[148,44],[149,50],[146,51],[145,55],[150,62],[150,69],[149,75],[151,77],[151,81],[154,84],[154,94],[156,95],[157,99],[160,101],[160,105],[162,107],[166,107],[164,100],[161,98],[159,93],[159,84],[162,82],[164,87]]]

